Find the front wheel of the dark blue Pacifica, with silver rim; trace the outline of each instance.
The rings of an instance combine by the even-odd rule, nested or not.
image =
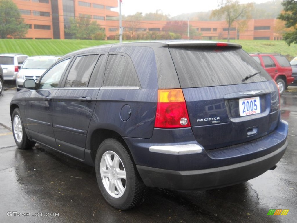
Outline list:
[[[23,125],[23,121],[20,115],[20,109],[16,108],[12,112],[12,133],[13,138],[15,139],[15,144],[20,149],[30,149],[34,147],[36,142],[31,141],[25,131],[25,127]]]

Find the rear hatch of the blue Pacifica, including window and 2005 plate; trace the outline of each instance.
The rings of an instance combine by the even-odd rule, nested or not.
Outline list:
[[[193,134],[206,150],[247,142],[277,127],[277,86],[240,45],[172,44],[169,51]]]

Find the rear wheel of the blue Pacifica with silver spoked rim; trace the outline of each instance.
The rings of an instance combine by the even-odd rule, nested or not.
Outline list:
[[[127,149],[118,139],[105,139],[95,160],[97,182],[103,197],[121,210],[142,202],[146,191]]]

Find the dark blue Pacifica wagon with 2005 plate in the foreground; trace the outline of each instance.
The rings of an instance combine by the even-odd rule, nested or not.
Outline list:
[[[93,165],[115,208],[146,187],[211,189],[274,169],[287,147],[279,91],[238,44],[103,45],[63,56],[11,100],[16,145]]]

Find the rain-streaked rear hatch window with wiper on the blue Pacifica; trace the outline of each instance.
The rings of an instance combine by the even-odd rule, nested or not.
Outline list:
[[[169,48],[182,88],[271,80],[245,51],[231,47]],[[243,80],[257,72],[261,73]]]

